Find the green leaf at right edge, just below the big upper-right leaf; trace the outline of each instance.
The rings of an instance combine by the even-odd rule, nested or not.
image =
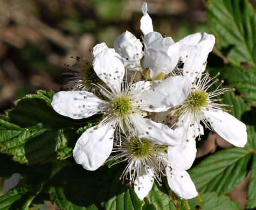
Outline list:
[[[256,106],[256,69],[227,68],[224,76],[234,88],[244,94],[246,101]]]

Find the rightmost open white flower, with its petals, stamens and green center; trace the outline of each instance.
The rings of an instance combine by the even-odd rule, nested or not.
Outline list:
[[[203,132],[200,122],[235,146],[244,147],[247,142],[245,124],[222,108],[229,105],[216,103],[221,100],[215,99],[215,96],[232,89],[220,88],[222,81],[215,91],[207,92],[218,82],[218,79],[210,78],[209,73],[203,73],[210,49],[209,43],[205,42],[205,45],[208,46],[206,47],[208,50],[202,48],[204,45],[190,50],[183,68],[183,73],[191,84],[190,94],[172,111],[173,115],[180,116],[175,130],[183,134],[181,146],[174,146],[168,151],[169,159],[176,167],[179,165],[186,165],[187,169],[191,167],[196,156],[195,138]],[[187,158],[177,158],[178,156]]]

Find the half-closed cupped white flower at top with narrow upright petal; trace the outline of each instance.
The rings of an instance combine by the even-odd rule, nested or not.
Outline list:
[[[161,80],[164,75],[175,69],[179,61],[179,43],[174,43],[171,37],[163,38],[158,32],[153,31],[152,20],[147,13],[147,3],[141,5],[143,17],[141,18],[141,30],[144,34],[145,47],[142,62],[143,75],[151,80]]]

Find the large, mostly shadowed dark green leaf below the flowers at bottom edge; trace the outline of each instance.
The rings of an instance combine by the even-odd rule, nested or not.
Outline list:
[[[80,165],[66,166],[49,183],[50,199],[61,209],[141,209],[133,187],[122,185],[123,167],[86,171]]]

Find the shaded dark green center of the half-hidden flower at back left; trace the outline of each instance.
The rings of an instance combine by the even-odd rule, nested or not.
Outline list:
[[[98,75],[95,73],[92,64],[87,63],[82,68],[82,75],[81,79],[84,83],[93,83],[98,84],[101,83],[101,79],[98,77]]]

